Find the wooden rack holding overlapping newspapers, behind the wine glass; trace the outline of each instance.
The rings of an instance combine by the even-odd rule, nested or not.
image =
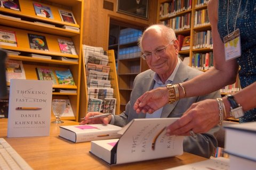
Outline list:
[[[114,50],[83,45],[79,118],[87,112],[119,114],[120,97]]]

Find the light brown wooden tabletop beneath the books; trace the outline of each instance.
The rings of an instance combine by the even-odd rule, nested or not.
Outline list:
[[[78,124],[64,122],[60,125]],[[4,138],[34,169],[165,169],[206,160],[185,152],[177,157],[109,166],[89,153],[90,142],[73,143],[60,138],[60,125],[51,123],[49,137],[7,138],[7,118],[1,118],[0,138]]]

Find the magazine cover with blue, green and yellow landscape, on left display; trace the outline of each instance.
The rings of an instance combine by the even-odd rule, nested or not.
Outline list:
[[[62,85],[75,85],[75,81],[70,70],[55,70],[59,84]]]

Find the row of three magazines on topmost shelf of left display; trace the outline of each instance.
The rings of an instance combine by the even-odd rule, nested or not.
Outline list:
[[[20,11],[21,13],[22,13],[22,10],[28,10],[27,8],[28,5],[23,8],[23,6],[20,6],[19,0],[5,0],[5,1],[0,1],[0,3],[1,3],[0,7],[9,8],[15,11]],[[54,13],[52,13],[51,7],[49,5],[36,3],[32,1],[31,3],[33,3],[35,14],[37,16],[54,19],[54,15],[53,15]],[[73,12],[59,9],[59,14],[63,22],[77,24]],[[55,17],[55,18],[58,18],[58,17]]]

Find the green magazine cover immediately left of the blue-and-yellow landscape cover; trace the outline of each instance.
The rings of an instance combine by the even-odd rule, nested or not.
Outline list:
[[[53,84],[58,84],[52,69],[36,67],[36,73],[38,80],[51,80]]]

